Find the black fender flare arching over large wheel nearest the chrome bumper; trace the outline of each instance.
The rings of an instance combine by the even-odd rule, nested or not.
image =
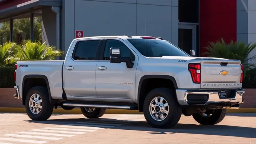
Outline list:
[[[175,78],[170,76],[170,75],[144,75],[143,77],[140,78],[139,87],[138,87],[138,95],[137,95],[137,103],[138,103],[138,107],[139,107],[140,112],[142,112],[140,110],[140,89],[141,89],[142,83],[143,83],[144,80],[152,79],[152,78],[162,78],[162,79],[171,80],[172,83],[174,84],[174,88],[178,89],[177,82],[176,82]]]

